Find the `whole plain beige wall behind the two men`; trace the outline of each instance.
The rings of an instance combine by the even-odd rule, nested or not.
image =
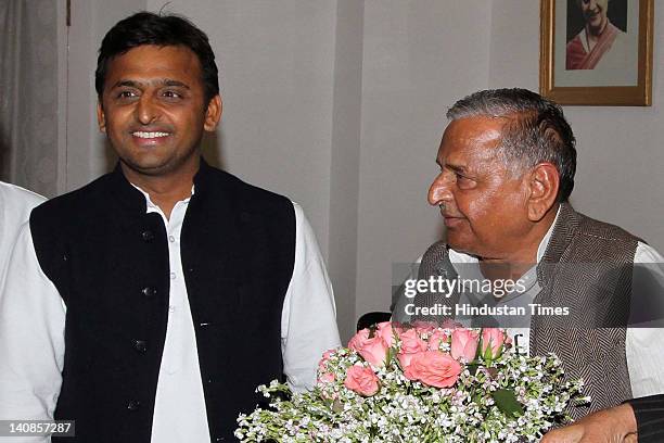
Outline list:
[[[104,33],[163,1],[74,0],[66,189],[112,165],[94,123],[92,73]],[[426,189],[457,99],[487,87],[537,90],[537,1],[175,0],[212,40],[225,102],[204,151],[299,202],[335,287],[342,336],[390,305],[395,262],[442,235]],[[656,22],[664,12],[659,9]],[[656,29],[655,56],[664,38]],[[652,107],[566,107],[578,138],[573,203],[664,250],[664,164],[655,63]]]

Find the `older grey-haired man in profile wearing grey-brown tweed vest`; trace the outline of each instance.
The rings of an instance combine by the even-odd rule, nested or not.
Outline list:
[[[584,378],[592,403],[571,408],[575,418],[633,395],[664,392],[664,375],[657,374],[664,338],[657,330],[626,328],[633,274],[644,274],[634,263],[663,258],[567,203],[576,151],[561,109],[527,90],[501,89],[473,93],[447,115],[451,123],[436,159],[440,173],[429,191],[447,239],[426,251],[419,278],[444,276],[459,286],[419,291],[413,303],[401,298],[395,318],[513,326],[526,352],[554,352],[571,378]],[[659,266],[646,270],[649,284],[662,283]],[[478,278],[518,284],[500,293],[461,284]],[[498,314],[480,318],[468,315],[468,306]],[[507,321],[496,307],[516,317]]]

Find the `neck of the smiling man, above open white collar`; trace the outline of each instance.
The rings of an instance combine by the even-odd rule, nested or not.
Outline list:
[[[152,203],[162,210],[166,218],[170,218],[170,213],[177,202],[191,197],[193,178],[199,166],[200,162],[196,162],[195,167],[180,169],[177,174],[150,176],[137,173],[122,163],[127,180],[146,192]]]

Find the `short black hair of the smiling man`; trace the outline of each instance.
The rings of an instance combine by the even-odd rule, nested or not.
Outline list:
[[[94,88],[101,102],[108,62],[130,49],[155,45],[158,47],[182,46],[191,49],[201,63],[205,102],[219,93],[219,79],[215,53],[205,33],[190,21],[178,15],[158,15],[138,12],[115,24],[106,33],[99,49]]]

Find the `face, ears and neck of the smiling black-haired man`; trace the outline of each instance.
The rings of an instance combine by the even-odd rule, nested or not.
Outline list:
[[[106,67],[99,127],[125,177],[166,216],[190,195],[203,131],[214,130],[221,116],[220,97],[207,97],[201,79],[196,54],[183,46],[140,46]]]

